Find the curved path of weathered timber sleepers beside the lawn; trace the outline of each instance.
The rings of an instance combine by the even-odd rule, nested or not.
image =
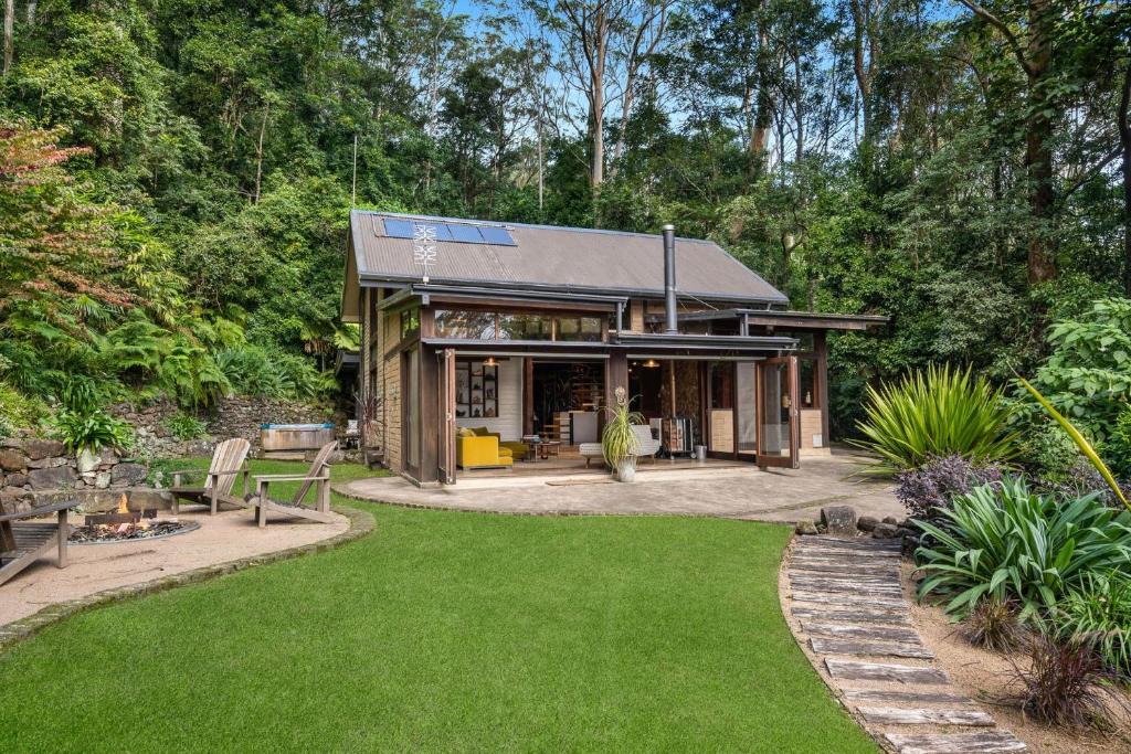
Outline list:
[[[812,649],[827,683],[889,751],[1027,751],[934,665],[909,618],[900,558],[898,545],[875,539],[796,540],[783,589],[797,641]]]

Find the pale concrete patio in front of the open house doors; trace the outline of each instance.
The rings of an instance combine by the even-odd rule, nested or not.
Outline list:
[[[815,519],[826,505],[846,504],[866,515],[903,519],[891,485],[848,478],[862,457],[851,452],[803,458],[800,469],[762,471],[754,466],[642,465],[636,482],[607,475],[515,475],[461,479],[420,488],[400,477],[338,485],[357,500],[420,508],[516,514],[715,515],[758,521]]]

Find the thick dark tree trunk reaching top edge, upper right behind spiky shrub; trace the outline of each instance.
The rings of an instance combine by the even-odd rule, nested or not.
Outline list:
[[[1056,277],[1053,222],[1053,120],[1052,103],[1046,101],[1048,73],[1052,69],[1052,28],[1048,0],[1029,3],[1030,37],[1028,44],[1029,114],[1025,124],[1025,165],[1029,177],[1029,215],[1034,227],[1029,233],[1029,284]]]

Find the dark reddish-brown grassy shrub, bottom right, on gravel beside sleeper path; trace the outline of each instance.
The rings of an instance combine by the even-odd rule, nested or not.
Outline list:
[[[1111,707],[1125,707],[1091,640],[1034,634],[1029,641],[1029,667],[1013,666],[1026,712],[1053,725],[1106,727]]]

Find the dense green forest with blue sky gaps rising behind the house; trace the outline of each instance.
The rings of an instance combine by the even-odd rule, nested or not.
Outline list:
[[[674,223],[796,307],[888,314],[832,345],[838,418],[909,366],[1034,369],[1131,294],[1129,28],[1122,0],[6,0],[0,399],[325,395],[351,201]]]

